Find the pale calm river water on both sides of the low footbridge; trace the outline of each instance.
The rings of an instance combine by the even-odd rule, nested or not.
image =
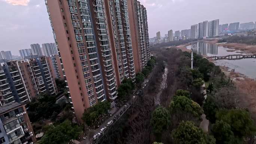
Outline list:
[[[225,56],[237,54],[240,51],[236,50],[234,52],[228,52],[227,50],[233,50],[224,48],[223,46],[217,46],[205,42],[193,43],[186,47],[187,49],[193,48],[193,52],[199,53],[203,56]],[[229,67],[230,70],[235,70],[240,74],[256,79],[256,59],[238,59],[238,60],[217,60],[214,64]]]

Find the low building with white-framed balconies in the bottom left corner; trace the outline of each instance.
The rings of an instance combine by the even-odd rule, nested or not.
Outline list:
[[[14,102],[0,106],[0,143],[33,144],[36,141],[25,105]]]

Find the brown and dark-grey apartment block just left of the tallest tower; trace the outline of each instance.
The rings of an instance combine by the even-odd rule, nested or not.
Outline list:
[[[55,95],[57,88],[54,80],[54,70],[50,67],[46,56],[27,56],[25,60],[18,61],[20,73],[31,97],[45,93]]]

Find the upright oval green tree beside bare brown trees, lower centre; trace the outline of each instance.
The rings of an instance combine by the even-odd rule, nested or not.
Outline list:
[[[150,121],[155,134],[161,134],[170,124],[169,113],[164,107],[158,107],[153,111]]]

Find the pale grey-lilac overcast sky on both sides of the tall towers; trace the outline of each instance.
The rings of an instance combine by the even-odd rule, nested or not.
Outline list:
[[[205,20],[220,24],[256,21],[256,0],[140,0],[147,8],[149,36],[189,29]],[[54,42],[44,0],[0,0],[0,50]]]

